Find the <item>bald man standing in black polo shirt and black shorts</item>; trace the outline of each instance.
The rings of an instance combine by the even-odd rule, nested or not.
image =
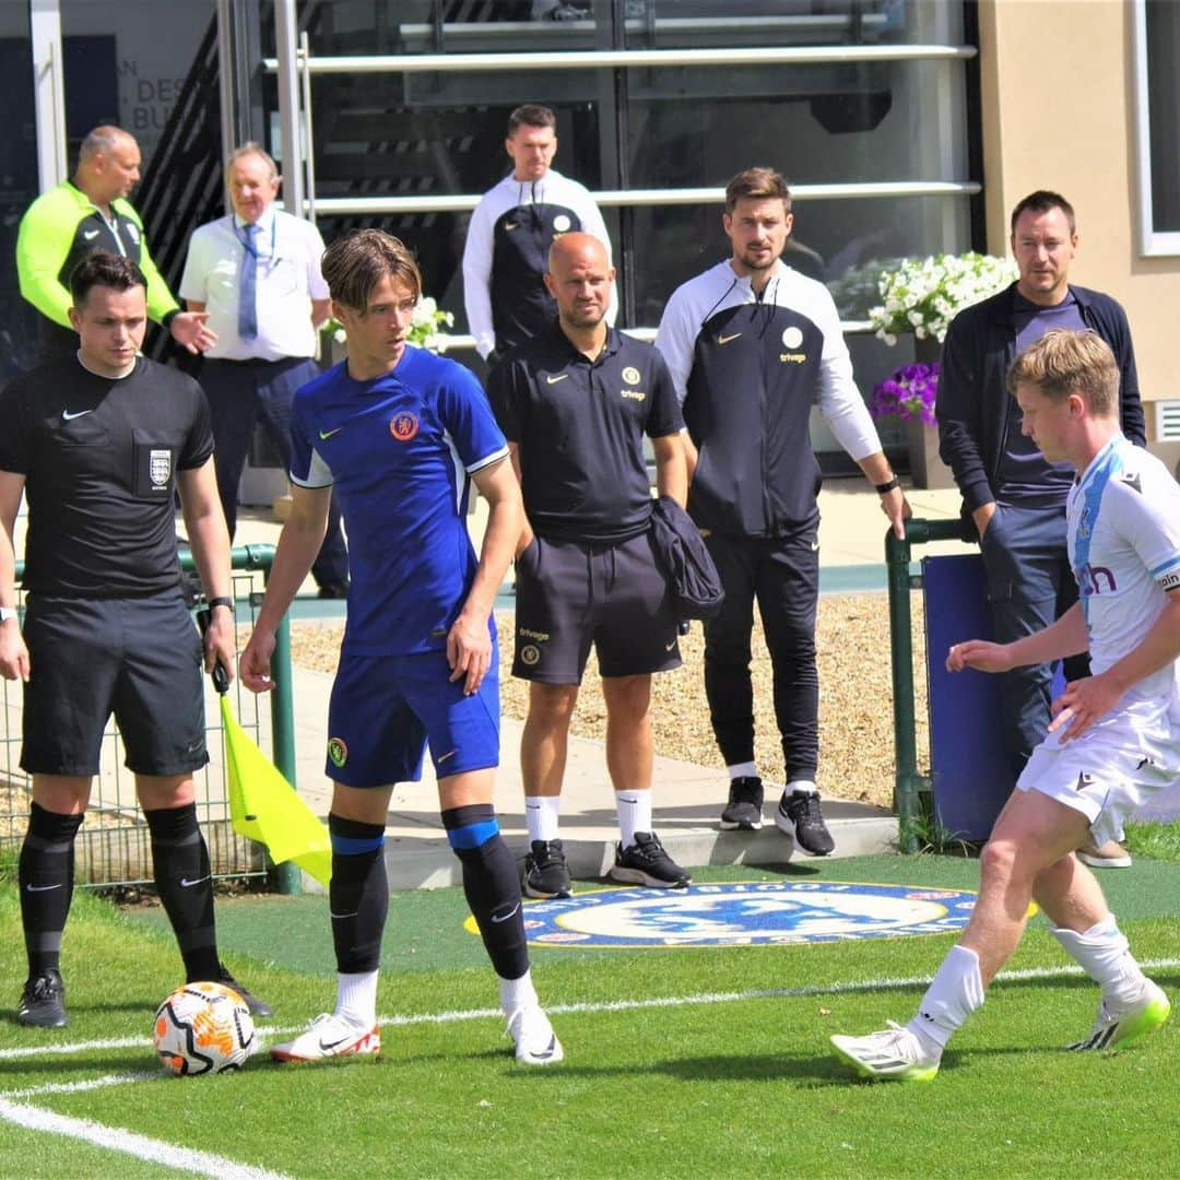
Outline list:
[[[605,322],[615,278],[589,234],[553,243],[545,284],[558,320],[505,356],[489,393],[524,489],[512,675],[532,681],[520,743],[531,852],[525,891],[568,894],[557,817],[570,716],[594,644],[620,844],[611,877],[688,884],[651,827],[651,673],[680,666],[676,615],[650,539],[651,439],[661,496],[683,504],[681,415],[650,346]],[[529,539],[529,535],[532,535]]]

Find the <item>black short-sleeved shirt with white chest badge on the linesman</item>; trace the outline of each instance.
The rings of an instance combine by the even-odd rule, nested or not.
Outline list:
[[[138,598],[177,585],[176,472],[212,454],[201,387],[140,358],[103,378],[74,358],[0,393],[0,471],[25,477],[27,590]]]

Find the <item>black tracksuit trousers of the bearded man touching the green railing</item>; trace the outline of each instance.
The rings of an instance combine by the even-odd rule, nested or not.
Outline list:
[[[758,599],[774,675],[774,715],[787,779],[815,778],[819,761],[819,518],[789,537],[754,539],[712,533],[709,553],[726,589],[725,605],[704,624],[704,691],[727,766],[754,760],[754,690],[749,674]]]

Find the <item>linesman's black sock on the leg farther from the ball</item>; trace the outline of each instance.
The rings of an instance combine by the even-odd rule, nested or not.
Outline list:
[[[80,813],[61,815],[39,804],[30,808],[17,866],[30,977],[60,966],[61,932],[73,898],[74,837],[81,820]]]

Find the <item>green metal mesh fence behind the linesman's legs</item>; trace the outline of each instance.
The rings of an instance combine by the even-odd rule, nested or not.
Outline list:
[[[235,631],[241,637],[253,629],[262,602],[262,585],[274,560],[274,545],[245,545],[232,550]],[[182,550],[182,566],[194,570],[192,557]],[[18,564],[17,578],[22,569]],[[24,595],[20,598],[24,609]],[[275,688],[269,719],[261,702],[234,682],[230,688],[234,714],[251,740],[263,749],[269,742],[271,758],[289,782],[295,782],[294,702],[291,697],[290,629],[284,618],[271,660]],[[28,821],[30,775],[20,769],[21,689],[12,681],[0,681],[4,716],[0,722],[0,856],[15,857]],[[197,818],[209,844],[214,876],[276,878],[283,892],[299,892],[299,871],[294,866],[269,866],[263,850],[237,835],[230,827],[225,741],[221,710],[211,684],[205,690],[205,736],[209,765],[194,775],[197,788]],[[151,847],[136,793],[135,776],[123,766],[123,742],[113,720],[103,738],[100,772],[94,778],[86,820],[76,845],[76,874],[79,885],[136,885],[151,881]]]

